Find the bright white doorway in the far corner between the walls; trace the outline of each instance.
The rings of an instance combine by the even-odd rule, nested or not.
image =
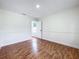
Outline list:
[[[42,38],[42,21],[39,19],[32,20],[32,36]]]

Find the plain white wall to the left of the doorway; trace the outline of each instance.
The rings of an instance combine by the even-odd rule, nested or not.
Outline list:
[[[0,46],[24,41],[31,36],[30,16],[0,10]]]

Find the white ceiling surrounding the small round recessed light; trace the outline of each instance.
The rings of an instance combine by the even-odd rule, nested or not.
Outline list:
[[[36,4],[40,8],[36,8]],[[79,0],[0,0],[0,9],[24,13],[33,17],[47,16],[51,13],[79,5]]]

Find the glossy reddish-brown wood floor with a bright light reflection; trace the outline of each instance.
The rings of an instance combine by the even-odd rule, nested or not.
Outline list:
[[[79,49],[32,38],[3,47],[0,59],[79,59]]]

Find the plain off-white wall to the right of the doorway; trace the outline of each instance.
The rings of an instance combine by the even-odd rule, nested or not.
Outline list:
[[[79,8],[72,8],[41,18],[43,38],[79,48]]]

